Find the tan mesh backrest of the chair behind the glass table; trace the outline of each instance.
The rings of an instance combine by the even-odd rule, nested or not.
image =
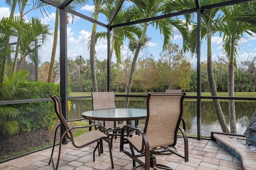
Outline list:
[[[115,94],[111,92],[92,92],[92,109],[114,109],[115,104]]]

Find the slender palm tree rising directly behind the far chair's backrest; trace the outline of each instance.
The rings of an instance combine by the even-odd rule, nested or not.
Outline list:
[[[102,6],[107,5],[106,2],[109,2],[111,4],[110,0],[93,0],[94,2],[94,20],[98,20],[98,15],[100,13],[100,8]],[[93,91],[98,91],[98,85],[97,85],[97,79],[96,79],[96,71],[95,71],[95,34],[97,30],[97,24],[93,23],[92,26],[92,34],[91,34],[91,39],[90,39],[90,65],[91,65],[91,73],[92,73],[92,86],[93,86]]]

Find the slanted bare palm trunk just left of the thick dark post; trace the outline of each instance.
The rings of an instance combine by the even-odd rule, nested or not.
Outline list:
[[[47,83],[52,82],[52,70],[53,70],[53,67],[54,67],[57,40],[58,40],[59,15],[60,15],[60,10],[58,8],[56,8],[55,25],[54,25],[54,37],[53,37],[53,45],[52,45],[52,56],[51,56],[51,61],[50,61],[50,68],[49,68]]]

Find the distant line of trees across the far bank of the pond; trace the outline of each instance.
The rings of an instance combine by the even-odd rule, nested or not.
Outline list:
[[[156,59],[157,58],[157,59]],[[107,60],[95,59],[98,91],[107,91]],[[122,63],[111,64],[111,89],[115,92],[126,92],[130,74],[131,55],[122,56]],[[49,62],[39,67],[39,80],[47,82]],[[56,75],[58,62],[55,62],[53,75]],[[228,64],[223,60],[212,62],[214,79],[218,92],[227,92]],[[210,92],[207,77],[207,63],[201,63],[202,92]],[[33,67],[32,67],[33,68]],[[54,78],[53,76],[53,78]],[[256,58],[238,64],[234,71],[235,92],[255,92]],[[166,89],[184,89],[187,92],[197,91],[197,68],[191,64],[188,57],[184,57],[178,45],[172,44],[158,57],[154,57],[147,50],[138,58],[134,71],[132,92],[147,93],[150,91],[163,92]],[[68,59],[68,86],[72,91],[92,91],[90,59],[82,55],[76,59]]]

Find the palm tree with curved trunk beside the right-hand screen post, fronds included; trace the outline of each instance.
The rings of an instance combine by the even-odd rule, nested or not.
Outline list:
[[[225,1],[226,0],[201,0],[200,2],[202,6],[206,6],[206,5],[216,4],[216,3],[225,2]],[[174,11],[182,11],[182,10],[188,10],[192,8],[196,8],[194,0],[176,0],[176,1],[170,1],[166,5],[166,12],[171,13]],[[212,34],[214,34],[217,31],[216,26],[218,25],[218,22],[221,21],[221,18],[218,18],[218,14],[219,14],[218,12],[219,12],[218,8],[205,10],[202,13],[202,26],[201,26],[202,28],[201,37],[202,38],[206,37],[206,40],[207,40],[207,75],[208,75],[208,81],[209,81],[209,86],[210,86],[210,91],[212,96],[218,96],[216,84],[214,81],[213,69],[212,69],[212,45],[211,45]],[[187,22],[189,22],[188,19],[187,19]],[[187,23],[187,24],[190,24],[190,23]],[[190,40],[188,44],[190,45],[190,50],[192,54],[195,54],[197,49],[196,37],[197,37],[197,25],[194,24],[192,25]],[[229,133],[228,125],[225,121],[225,117],[220,107],[220,101],[218,99],[212,99],[212,103],[214,105],[214,109],[216,111],[222,131]]]

